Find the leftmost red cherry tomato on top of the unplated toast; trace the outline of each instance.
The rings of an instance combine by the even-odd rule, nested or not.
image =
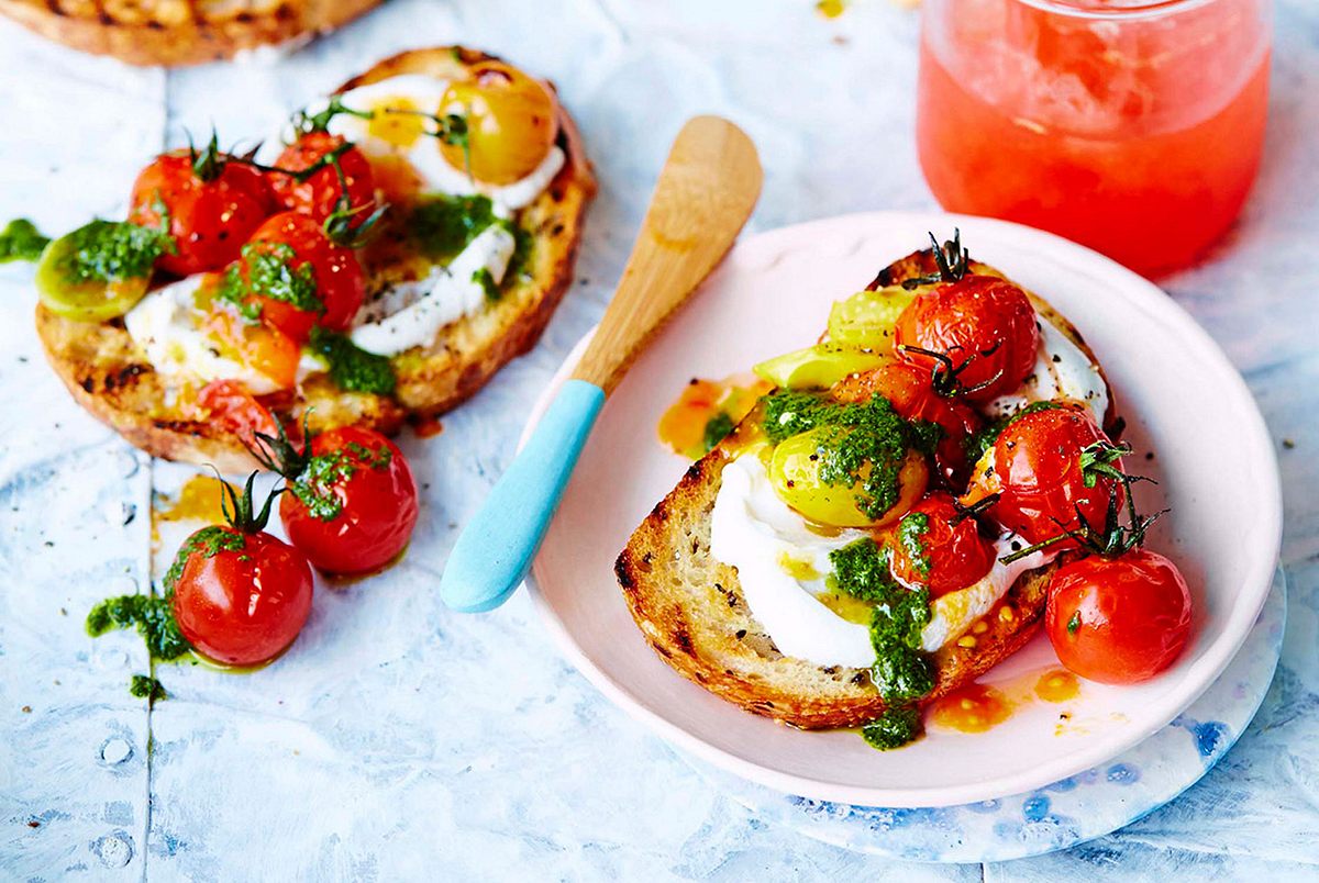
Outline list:
[[[260,171],[224,154],[214,159],[212,167],[203,169],[212,177],[204,178],[187,150],[165,153],[133,183],[128,220],[158,228],[161,211],[169,216],[177,253],[156,262],[166,273],[219,270],[274,211],[274,196]]]

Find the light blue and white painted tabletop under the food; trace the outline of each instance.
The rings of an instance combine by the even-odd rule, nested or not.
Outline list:
[[[1067,853],[929,867],[756,818],[607,704],[525,597],[448,613],[456,525],[513,452],[559,360],[599,318],[669,138],[720,112],[760,145],[752,229],[929,208],[911,138],[915,20],[871,0],[390,0],[274,65],[165,75],[75,55],[0,22],[0,217],[115,216],[185,129],[260,137],[392,51],[467,42],[553,78],[601,179],[579,283],[541,347],[445,432],[404,445],[425,484],[408,560],[322,590],[278,664],[165,669],[150,714],[124,684],[141,642],[82,630],[150,569],[153,488],[177,482],[80,413],[44,364],[30,270],[0,268],[0,878],[202,879],[1314,879],[1319,875],[1319,8],[1278,4],[1265,167],[1240,228],[1165,287],[1245,373],[1281,449],[1290,580],[1278,677],[1196,787]],[[1231,452],[1224,452],[1231,456]],[[128,515],[135,517],[129,521]],[[1223,513],[1249,518],[1249,513]],[[128,521],[125,525],[124,522]],[[154,746],[148,763],[148,738]]]

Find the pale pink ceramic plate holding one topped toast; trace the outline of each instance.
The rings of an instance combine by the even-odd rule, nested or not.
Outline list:
[[[1141,485],[1141,502],[1173,507],[1150,543],[1179,563],[1192,586],[1195,634],[1177,666],[1146,684],[1086,683],[1070,702],[1024,702],[987,733],[931,729],[909,747],[880,753],[853,733],[780,726],[681,677],[632,622],[613,560],[689,465],[660,445],[656,422],[690,378],[724,377],[807,345],[836,298],[926,245],[926,231],[946,237],[954,225],[975,257],[1049,299],[1097,353],[1128,420],[1124,438],[1137,452],[1129,463],[1159,481]],[[533,424],[580,352],[579,345],[533,411]],[[1254,623],[1281,523],[1273,445],[1250,393],[1217,345],[1162,291],[1039,231],[881,212],[789,227],[733,249],[605,405],[528,583],[583,673],[679,747],[806,797],[943,807],[1030,791],[1095,767],[1187,708]],[[1050,664],[1057,659],[1039,635],[981,680],[1021,683]]]

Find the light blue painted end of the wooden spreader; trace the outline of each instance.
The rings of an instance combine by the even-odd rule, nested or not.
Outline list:
[[[445,604],[462,613],[493,610],[526,579],[603,405],[604,390],[595,384],[563,384],[459,535],[439,579]]]

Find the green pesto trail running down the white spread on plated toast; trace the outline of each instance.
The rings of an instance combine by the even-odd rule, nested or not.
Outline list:
[[[921,631],[930,622],[930,592],[909,590],[889,572],[888,551],[873,539],[830,552],[830,588],[874,605],[871,610],[871,680],[885,702],[913,702],[934,689],[934,667],[921,650]]]

